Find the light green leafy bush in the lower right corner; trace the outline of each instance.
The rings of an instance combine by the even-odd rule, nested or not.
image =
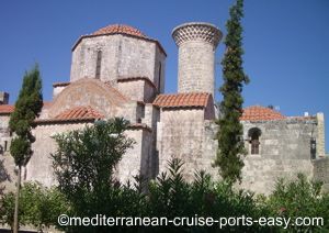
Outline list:
[[[322,232],[329,229],[329,193],[321,193],[321,182],[309,181],[303,174],[296,180],[279,179],[274,191],[270,195],[266,206],[272,215],[292,218],[324,218],[325,225],[291,224],[288,231]]]

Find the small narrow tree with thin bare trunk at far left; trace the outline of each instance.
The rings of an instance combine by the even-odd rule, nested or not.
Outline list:
[[[35,141],[32,135],[32,129],[35,126],[34,120],[43,107],[42,79],[37,65],[26,71],[23,85],[15,102],[15,109],[10,115],[9,127],[15,134],[11,141],[10,153],[14,158],[15,165],[19,167],[18,184],[15,193],[14,209],[14,232],[18,232],[19,222],[19,197],[21,186],[22,167],[26,165],[33,152],[32,143]]]

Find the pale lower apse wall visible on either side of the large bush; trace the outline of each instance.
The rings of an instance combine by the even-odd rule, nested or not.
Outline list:
[[[34,130],[34,135],[36,137],[36,142],[33,144],[34,154],[26,168],[23,170],[23,180],[39,181],[45,186],[55,185],[56,179],[53,174],[50,153],[56,152],[57,144],[50,136],[55,135],[55,133],[83,129],[88,124],[90,125],[90,123],[38,125]],[[150,136],[149,134],[144,134],[145,132],[143,130],[126,131],[127,137],[133,138],[136,143],[133,145],[133,148],[127,151],[116,167],[115,174],[123,182],[133,180],[133,176],[139,174],[141,166],[148,167],[148,165],[145,165],[144,163],[149,160],[148,156],[150,156],[150,153],[148,153],[148,149],[150,144],[145,144],[147,143],[145,136],[148,136],[146,140],[150,138]],[[145,142],[143,142],[143,138]],[[141,155],[144,156],[143,158]]]

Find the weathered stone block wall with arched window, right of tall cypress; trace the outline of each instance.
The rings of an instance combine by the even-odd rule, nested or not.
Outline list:
[[[246,141],[248,155],[242,170],[242,188],[260,193],[273,190],[280,177],[295,178],[304,173],[313,178],[310,137],[314,121],[288,119],[279,121],[243,122],[243,138],[249,140],[250,129],[261,130],[260,153],[252,155],[251,144]]]

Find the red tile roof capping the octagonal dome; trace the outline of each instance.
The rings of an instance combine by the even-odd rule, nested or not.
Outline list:
[[[126,35],[134,35],[138,37],[146,38],[147,36],[141,33],[139,30],[129,26],[129,25],[123,25],[123,24],[114,24],[114,25],[107,25],[105,27],[102,27],[92,35],[107,35],[107,34],[126,34]]]

